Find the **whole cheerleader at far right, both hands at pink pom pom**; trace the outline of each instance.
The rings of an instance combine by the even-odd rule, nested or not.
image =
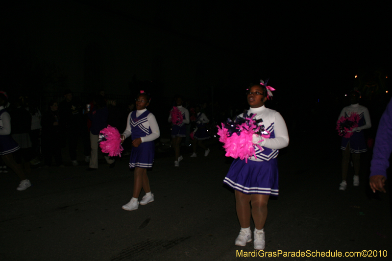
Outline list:
[[[344,107],[342,112],[339,115],[339,118],[342,116],[350,117],[351,114],[356,113],[359,115],[359,123],[358,127],[352,129],[352,136],[350,138],[342,137],[342,145],[341,149],[343,150],[343,159],[342,159],[342,182],[340,183],[339,190],[346,190],[347,188],[347,172],[348,172],[348,163],[350,161],[350,154],[352,155],[352,163],[354,166],[354,179],[353,185],[359,186],[359,167],[360,167],[360,156],[361,153],[368,151],[365,141],[365,135],[362,130],[368,129],[371,127],[370,115],[368,108],[365,106],[359,105],[359,92],[352,91],[350,93],[350,103],[351,105]]]

